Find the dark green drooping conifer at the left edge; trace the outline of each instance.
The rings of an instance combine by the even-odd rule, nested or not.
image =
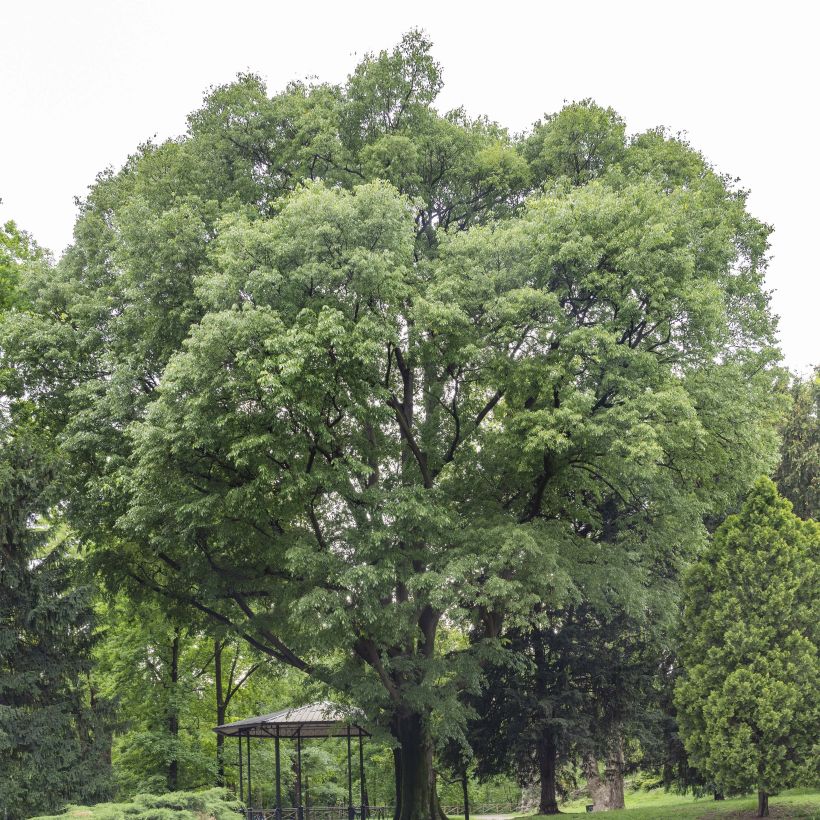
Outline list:
[[[46,518],[54,467],[30,426],[0,421],[0,809],[10,818],[111,793],[110,705],[90,681],[93,590]]]

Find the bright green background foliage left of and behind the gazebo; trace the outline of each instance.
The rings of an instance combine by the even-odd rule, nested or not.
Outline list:
[[[97,611],[103,629],[93,679],[100,694],[117,703],[112,764],[120,795],[219,783],[214,726],[317,697],[292,670],[260,660],[235,638],[214,638],[201,621],[183,620],[179,612],[169,617],[153,600],[120,594],[99,601]],[[254,750],[256,765],[266,771],[273,765],[268,746]],[[221,755],[222,782],[238,791],[236,742],[228,740]],[[334,761],[329,770],[336,769]]]

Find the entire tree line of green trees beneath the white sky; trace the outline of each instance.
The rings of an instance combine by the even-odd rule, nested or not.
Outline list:
[[[121,788],[223,782],[182,678],[189,725],[303,678],[363,709],[397,820],[445,768],[543,813],[637,759],[808,771],[817,531],[758,479],[816,515],[817,382],[780,367],[769,226],[663,129],[584,100],[510,135],[441,87],[418,31],[341,85],[241,75],[97,177],[59,261],[6,226],[12,816],[109,793],[112,737]]]

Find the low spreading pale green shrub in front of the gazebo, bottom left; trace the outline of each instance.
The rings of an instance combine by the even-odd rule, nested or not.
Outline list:
[[[174,794],[138,794],[126,803],[69,806],[63,814],[35,820],[90,817],[92,820],[235,820],[241,804],[223,789]]]

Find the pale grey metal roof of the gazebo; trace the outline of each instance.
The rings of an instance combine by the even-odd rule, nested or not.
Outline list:
[[[225,723],[214,727],[214,731],[231,737],[347,737],[348,733],[351,737],[368,736],[351,721],[350,715],[330,701]]]

